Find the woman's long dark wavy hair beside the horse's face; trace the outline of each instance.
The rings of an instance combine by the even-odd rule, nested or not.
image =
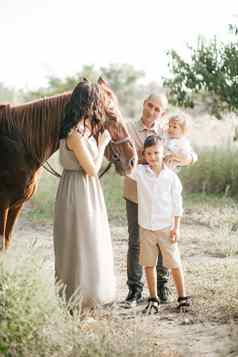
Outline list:
[[[60,128],[60,139],[66,138],[70,130],[80,120],[89,119],[92,134],[97,136],[102,129],[105,111],[100,85],[87,80],[79,82],[72,92],[70,102],[65,107],[65,116]]]

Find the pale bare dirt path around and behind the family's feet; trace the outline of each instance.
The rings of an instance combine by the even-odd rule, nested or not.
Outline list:
[[[126,252],[127,230],[126,227],[112,226],[113,246],[115,252],[115,270],[118,282],[118,301],[125,298],[126,287]],[[196,232],[196,237],[194,236]],[[181,241],[181,251],[185,262],[185,271],[195,264],[219,264],[224,257],[211,256],[209,252],[209,235],[212,232],[209,227],[201,224],[184,224]],[[198,243],[199,237],[199,243]],[[45,264],[49,269],[49,278],[53,277],[53,245],[51,225],[32,225],[26,219],[21,218],[18,222],[12,249],[24,252],[27,245],[36,242],[39,255],[45,258]],[[17,249],[16,249],[17,248]],[[237,261],[238,264],[238,261]],[[187,272],[188,271],[188,272]],[[146,289],[145,289],[146,291]],[[238,356],[238,327],[234,323],[199,321],[194,314],[178,314],[174,311],[175,292],[173,289],[173,302],[161,307],[160,316],[140,316],[142,307],[132,310],[116,308],[113,310],[113,319],[118,325],[126,321],[127,328],[137,329],[138,334],[146,334],[150,343],[154,346],[154,356]],[[196,300],[195,300],[196,302]],[[137,326],[135,327],[135,321]],[[137,334],[137,335],[138,335]],[[135,341],[136,342],[136,341]],[[136,342],[137,343],[137,342]],[[139,343],[139,341],[138,341]],[[151,354],[150,354],[151,355]]]

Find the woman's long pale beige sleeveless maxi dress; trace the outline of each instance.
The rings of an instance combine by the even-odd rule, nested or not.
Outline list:
[[[93,137],[87,146],[95,159]],[[115,298],[115,275],[109,223],[97,176],[85,175],[73,151],[60,141],[60,179],[54,220],[55,274],[66,287],[67,301],[79,293],[83,307]]]

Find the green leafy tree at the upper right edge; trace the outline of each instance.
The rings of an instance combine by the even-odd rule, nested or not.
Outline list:
[[[176,51],[168,52],[171,76],[164,78],[172,104],[193,107],[196,99],[209,101],[212,114],[218,118],[225,111],[238,111],[238,29],[229,26],[231,40],[206,42],[199,38],[190,47],[190,61]]]

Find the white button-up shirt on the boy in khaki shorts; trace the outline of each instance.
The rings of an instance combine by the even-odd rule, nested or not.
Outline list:
[[[174,216],[182,216],[182,184],[165,165],[156,175],[149,165],[137,165],[128,175],[137,182],[138,222],[152,231],[172,226]]]

